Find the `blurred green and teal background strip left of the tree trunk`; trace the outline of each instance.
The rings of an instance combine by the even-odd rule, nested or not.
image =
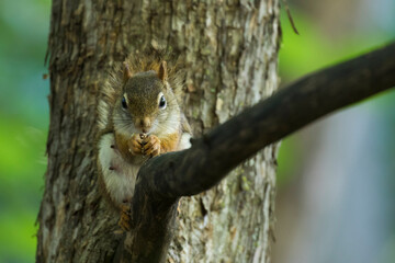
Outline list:
[[[49,0],[0,1],[0,262],[33,262],[46,169]]]

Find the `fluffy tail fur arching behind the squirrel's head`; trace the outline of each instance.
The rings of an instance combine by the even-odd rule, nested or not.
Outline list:
[[[163,49],[155,49],[149,47],[144,52],[136,50],[125,58],[129,67],[132,76],[137,72],[159,70],[161,61],[167,61],[168,65],[168,81],[180,103],[180,95],[184,84],[184,67],[180,62],[181,59],[174,56],[171,52]],[[109,70],[109,78],[104,82],[98,104],[98,127],[103,130],[108,127],[111,119],[113,106],[116,100],[122,95],[123,87],[123,65],[122,61],[114,62],[114,66]]]

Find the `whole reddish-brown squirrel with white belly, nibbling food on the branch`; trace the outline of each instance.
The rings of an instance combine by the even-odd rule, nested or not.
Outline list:
[[[129,229],[129,203],[142,164],[191,146],[181,112],[182,71],[158,56],[128,56],[115,64],[98,104],[97,163],[102,195]]]

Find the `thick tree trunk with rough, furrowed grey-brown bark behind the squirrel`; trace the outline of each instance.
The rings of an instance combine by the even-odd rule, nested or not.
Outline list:
[[[99,194],[92,139],[112,62],[148,45],[170,46],[188,69],[183,107],[199,137],[278,88],[279,15],[276,0],[53,1],[37,262],[119,261],[124,233]],[[269,262],[276,149],[181,198],[169,262]]]

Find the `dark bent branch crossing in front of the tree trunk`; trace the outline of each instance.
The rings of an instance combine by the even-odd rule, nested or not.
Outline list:
[[[155,228],[166,226],[178,197],[211,188],[263,147],[394,85],[395,43],[307,76],[193,140],[190,149],[151,159],[138,173],[132,204],[134,235],[147,241],[151,235],[151,248],[157,244],[162,250]],[[148,219],[143,213],[147,207],[151,211]],[[138,229],[145,229],[144,233]]]

